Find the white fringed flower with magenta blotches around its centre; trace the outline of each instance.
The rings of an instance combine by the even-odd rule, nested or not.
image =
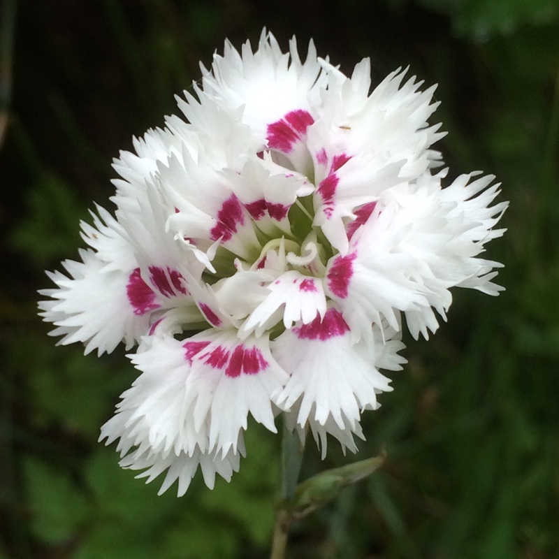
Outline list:
[[[310,428],[356,451],[359,421],[391,390],[402,324],[438,327],[454,286],[497,294],[479,258],[506,203],[493,177],[447,170],[428,124],[434,87],[396,71],[370,92],[310,44],[305,62],[263,32],[226,43],[187,117],[134,140],[114,168],[115,216],[82,224],[89,249],[41,293],[61,343],[112,351],[140,370],[101,438],[121,465],[166,472],[184,493],[198,467],[230,479],[250,415],[274,431]]]

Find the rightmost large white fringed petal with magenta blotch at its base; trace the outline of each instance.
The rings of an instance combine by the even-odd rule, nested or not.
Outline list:
[[[490,280],[500,265],[475,256],[486,238],[502,234],[491,228],[506,205],[489,206],[498,194],[484,190],[491,177],[470,185],[469,176],[459,177],[448,193],[442,177],[422,175],[382,193],[365,222],[351,228],[348,254],[329,261],[327,294],[361,335],[383,318],[398,329],[404,312],[412,335],[428,337],[438,327],[433,310],[446,317],[451,287],[498,293]]]

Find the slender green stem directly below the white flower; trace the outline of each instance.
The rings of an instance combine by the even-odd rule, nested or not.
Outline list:
[[[272,553],[270,559],[284,559],[289,532],[289,513],[286,504],[289,504],[295,495],[297,480],[303,462],[303,451],[295,430],[287,430],[284,422],[282,437],[282,493],[276,504],[274,535],[272,540]]]

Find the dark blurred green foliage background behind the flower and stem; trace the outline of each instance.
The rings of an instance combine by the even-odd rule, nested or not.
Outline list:
[[[488,247],[498,298],[455,291],[449,323],[409,344],[357,457],[310,445],[303,477],[374,456],[368,481],[296,525],[290,558],[559,557],[559,2],[557,0],[3,0],[0,21],[0,558],[265,558],[279,437],[214,491],[157,497],[99,427],[134,378],[124,351],[55,347],[36,317],[45,268],[77,256],[110,208],[110,162],[176,112],[224,38],[266,25],[342,70],[372,57],[438,83],[451,177],[494,173],[511,205]],[[13,41],[10,38],[13,37]],[[13,48],[10,48],[12,45]],[[11,68],[11,73],[10,73]],[[10,78],[11,75],[11,78]],[[8,87],[10,86],[10,87]],[[9,107],[8,107],[9,104]]]

